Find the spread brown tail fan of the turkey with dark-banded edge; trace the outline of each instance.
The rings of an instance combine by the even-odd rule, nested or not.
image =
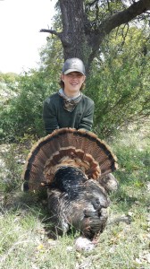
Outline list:
[[[22,178],[24,190],[38,190],[53,182],[55,172],[64,166],[81,169],[87,179],[98,180],[117,169],[117,159],[96,134],[62,128],[40,139],[31,149]]]

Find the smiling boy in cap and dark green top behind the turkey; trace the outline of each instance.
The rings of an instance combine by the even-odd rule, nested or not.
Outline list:
[[[85,80],[83,62],[79,58],[67,59],[61,74],[61,89],[44,101],[46,134],[63,127],[91,130],[95,104],[82,93]]]

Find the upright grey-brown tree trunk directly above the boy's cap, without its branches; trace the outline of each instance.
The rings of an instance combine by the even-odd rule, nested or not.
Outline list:
[[[87,67],[87,56],[91,53],[91,48],[85,32],[83,0],[60,0],[60,6],[63,20],[61,40],[64,60],[69,57],[79,57]]]

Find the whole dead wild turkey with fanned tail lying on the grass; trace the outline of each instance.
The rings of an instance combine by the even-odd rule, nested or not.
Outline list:
[[[23,188],[47,187],[48,210],[58,233],[73,227],[94,239],[104,230],[110,204],[104,176],[116,168],[116,157],[96,134],[58,129],[29,153]]]

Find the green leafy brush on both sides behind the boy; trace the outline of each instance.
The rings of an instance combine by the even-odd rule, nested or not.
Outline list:
[[[127,37],[125,32],[128,31]],[[0,107],[0,135],[16,140],[24,134],[45,135],[43,101],[59,89],[63,52],[54,37],[41,49],[37,70],[1,74],[0,89],[9,92]],[[101,138],[149,116],[150,42],[144,28],[113,30],[95,58],[84,91],[96,103],[93,131]]]

